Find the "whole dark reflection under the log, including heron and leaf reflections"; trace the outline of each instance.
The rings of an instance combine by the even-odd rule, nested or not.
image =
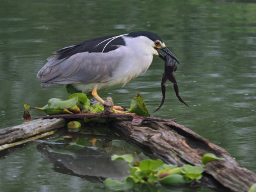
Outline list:
[[[109,134],[105,125],[95,125],[90,124],[90,129],[82,127],[77,133],[60,131],[60,136],[39,143],[36,149],[47,162],[54,164],[57,172],[97,182],[107,177],[123,180],[129,167],[124,161],[112,161],[111,155],[132,154],[134,161],[145,156],[124,140]]]

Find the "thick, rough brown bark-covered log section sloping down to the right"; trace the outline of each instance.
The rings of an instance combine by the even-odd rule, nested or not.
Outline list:
[[[150,149],[168,163],[201,166],[201,158],[206,153],[224,157],[225,161],[214,161],[204,169],[205,173],[232,191],[248,191],[256,182],[255,173],[241,167],[227,151],[183,125],[175,122],[143,122],[134,126],[131,121],[124,120],[116,120],[112,125],[122,136]]]

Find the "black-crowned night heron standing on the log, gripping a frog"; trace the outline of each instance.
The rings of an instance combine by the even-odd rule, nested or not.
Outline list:
[[[93,38],[54,52],[37,77],[43,87],[72,84],[104,104],[97,90],[127,84],[148,69],[154,54],[165,60],[159,50],[179,63],[163,40],[149,31]]]

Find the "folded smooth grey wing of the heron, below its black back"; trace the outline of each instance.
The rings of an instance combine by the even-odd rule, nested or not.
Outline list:
[[[125,49],[124,46],[122,48]],[[54,55],[47,59],[37,77],[42,86],[106,82],[118,70],[118,64],[124,58],[122,52],[120,49],[104,53],[79,52],[61,60],[58,60],[59,55]]]

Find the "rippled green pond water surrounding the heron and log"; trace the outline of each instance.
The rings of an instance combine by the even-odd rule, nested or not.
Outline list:
[[[41,88],[36,78],[51,52],[97,36],[153,31],[182,63],[175,77],[180,96],[190,106],[181,104],[172,84],[167,83],[166,101],[154,116],[177,118],[179,124],[225,148],[242,166],[256,172],[256,4],[253,2],[3,0],[0,128],[23,122],[24,102],[44,106],[51,97],[67,98],[63,86]],[[116,105],[129,107],[132,97],[140,92],[152,113],[161,101],[163,67],[163,61],[156,56],[145,74],[124,88],[115,86],[99,94],[103,98],[113,97]],[[52,161],[47,161],[37,146],[34,143],[2,156],[3,191],[104,190],[95,180],[52,168]],[[122,149],[111,152],[133,151]]]

